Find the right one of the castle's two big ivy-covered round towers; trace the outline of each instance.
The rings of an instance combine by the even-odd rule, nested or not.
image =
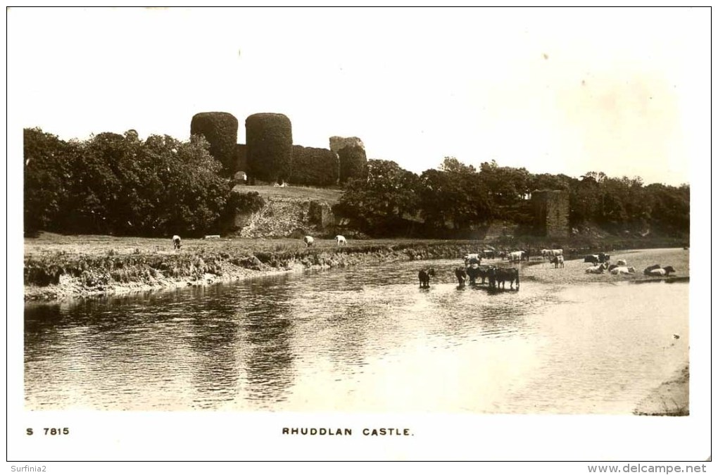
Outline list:
[[[292,122],[284,114],[253,114],[245,122],[251,179],[281,183],[292,174]]]

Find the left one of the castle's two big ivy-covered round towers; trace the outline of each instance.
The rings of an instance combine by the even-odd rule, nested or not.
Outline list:
[[[237,118],[226,112],[202,112],[192,117],[191,135],[205,136],[210,155],[222,164],[221,173],[230,177],[236,169]]]

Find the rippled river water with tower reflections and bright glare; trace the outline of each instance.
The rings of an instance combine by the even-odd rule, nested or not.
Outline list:
[[[28,304],[26,405],[630,413],[687,359],[686,283],[490,294],[454,265]]]

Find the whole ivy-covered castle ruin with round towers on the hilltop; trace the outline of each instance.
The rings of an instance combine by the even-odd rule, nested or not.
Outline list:
[[[205,136],[222,174],[246,172],[249,182],[330,186],[365,176],[366,153],[359,138],[331,137],[330,149],[294,145],[292,122],[279,113],[257,113],[245,121],[246,144],[237,143],[239,122],[226,112],[192,117],[190,133]]]

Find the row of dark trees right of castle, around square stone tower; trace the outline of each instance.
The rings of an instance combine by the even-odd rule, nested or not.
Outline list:
[[[681,237],[690,231],[688,184],[645,185],[640,177],[610,178],[600,171],[579,178],[532,174],[495,161],[477,170],[453,157],[421,175],[386,160],[369,160],[367,170],[365,179],[348,182],[337,212],[375,235],[415,227],[424,235],[469,237],[497,220],[531,234],[531,194],[545,189],[568,193],[569,222],[577,230]]]

